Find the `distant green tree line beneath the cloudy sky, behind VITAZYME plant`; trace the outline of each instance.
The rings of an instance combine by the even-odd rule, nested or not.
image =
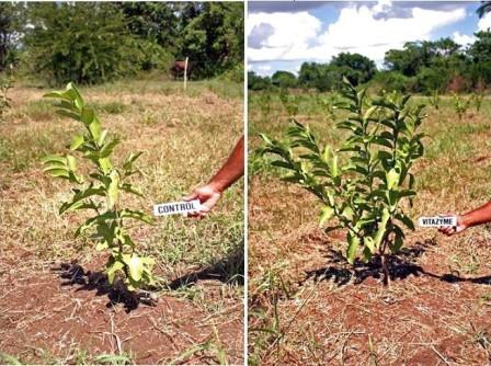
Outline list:
[[[409,42],[402,49],[390,49],[384,69],[369,58],[343,53],[328,64],[304,62],[298,77],[276,71],[271,78],[249,72],[249,88],[307,88],[338,90],[345,76],[353,84],[397,89],[402,92],[464,92],[482,90],[491,83],[491,32],[478,32],[476,42],[463,47],[450,38]]]

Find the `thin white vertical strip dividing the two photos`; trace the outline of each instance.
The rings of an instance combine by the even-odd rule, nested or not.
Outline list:
[[[248,298],[249,298],[249,226],[248,226],[248,204],[249,204],[249,174],[248,174],[248,161],[249,161],[249,131],[248,131],[248,0],[243,0],[243,136],[244,136],[244,179],[243,179],[243,192],[244,192],[244,207],[243,207],[243,363],[248,365],[248,345],[249,345],[249,332],[248,332]]]

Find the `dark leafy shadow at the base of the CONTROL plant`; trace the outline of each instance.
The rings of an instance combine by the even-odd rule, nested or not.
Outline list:
[[[58,273],[59,277],[65,279],[61,286],[76,286],[77,291],[95,290],[95,296],[107,296],[107,308],[122,304],[126,312],[129,313],[137,309],[140,304],[155,305],[148,293],[132,293],[117,279],[114,284],[110,284],[105,273],[85,271],[76,262],[61,263],[59,267],[54,267],[52,271]]]

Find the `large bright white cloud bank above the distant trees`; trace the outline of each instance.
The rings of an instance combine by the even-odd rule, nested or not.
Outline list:
[[[249,49],[250,60],[329,60],[341,52],[359,53],[381,64],[390,48],[406,42],[430,39],[432,33],[466,16],[465,4],[452,10],[412,8],[402,18],[385,16],[392,4],[351,4],[321,33],[321,21],[307,12],[250,14],[250,31],[270,24],[274,33],[263,39],[262,48]],[[491,19],[490,19],[491,22]]]

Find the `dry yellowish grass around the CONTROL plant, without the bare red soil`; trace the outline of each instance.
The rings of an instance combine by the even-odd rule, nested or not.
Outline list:
[[[145,152],[138,164],[142,174],[135,183],[146,198],[126,196],[122,204],[150,213],[152,204],[179,199],[210,179],[242,134],[241,88],[218,81],[190,82],[189,92],[184,93],[181,83],[147,80],[82,89],[99,111],[103,126],[122,137],[119,159],[132,150]],[[28,274],[32,282],[47,275],[54,262],[77,259],[88,267],[102,263],[88,239],[72,239],[82,222],[80,214],[58,215],[58,207],[69,196],[69,185],[42,172],[39,158],[64,151],[79,128],[54,114],[54,108],[42,99],[45,92],[16,84],[10,92],[12,108],[0,124],[0,258],[1,263],[9,263],[8,271],[0,271],[0,286],[12,286],[13,294],[22,288],[7,272],[18,272],[19,278]],[[196,344],[207,345],[202,354],[208,361],[224,355],[229,363],[242,359],[242,196],[243,184],[239,182],[205,220],[159,218],[153,227],[132,228],[141,251],[157,259],[162,282],[171,285],[161,296],[176,298],[183,308],[192,309],[194,319],[189,321],[201,327],[199,335],[187,341],[178,339],[176,346],[160,362],[175,357],[198,359],[197,351],[182,355]],[[201,279],[199,273],[206,270],[214,274]],[[58,282],[53,274],[48,278]],[[58,285],[57,291],[62,293]],[[9,314],[0,313],[2,325],[10,322]],[[164,318],[158,319],[158,329],[175,331]],[[230,321],[233,327],[224,333]],[[12,323],[9,329],[0,329],[2,333],[12,332]],[[228,334],[231,331],[236,332],[233,341]],[[228,341],[220,346],[222,341],[217,340],[224,336]],[[53,340],[57,342],[61,340]],[[91,342],[77,338],[73,342],[70,357],[82,353],[84,359],[94,359],[87,351],[93,348]],[[22,355],[33,344],[2,344],[0,340],[0,351]],[[215,350],[221,353],[214,353]],[[145,350],[124,351],[136,361]],[[47,348],[45,353],[58,361],[67,359],[59,350]]]

